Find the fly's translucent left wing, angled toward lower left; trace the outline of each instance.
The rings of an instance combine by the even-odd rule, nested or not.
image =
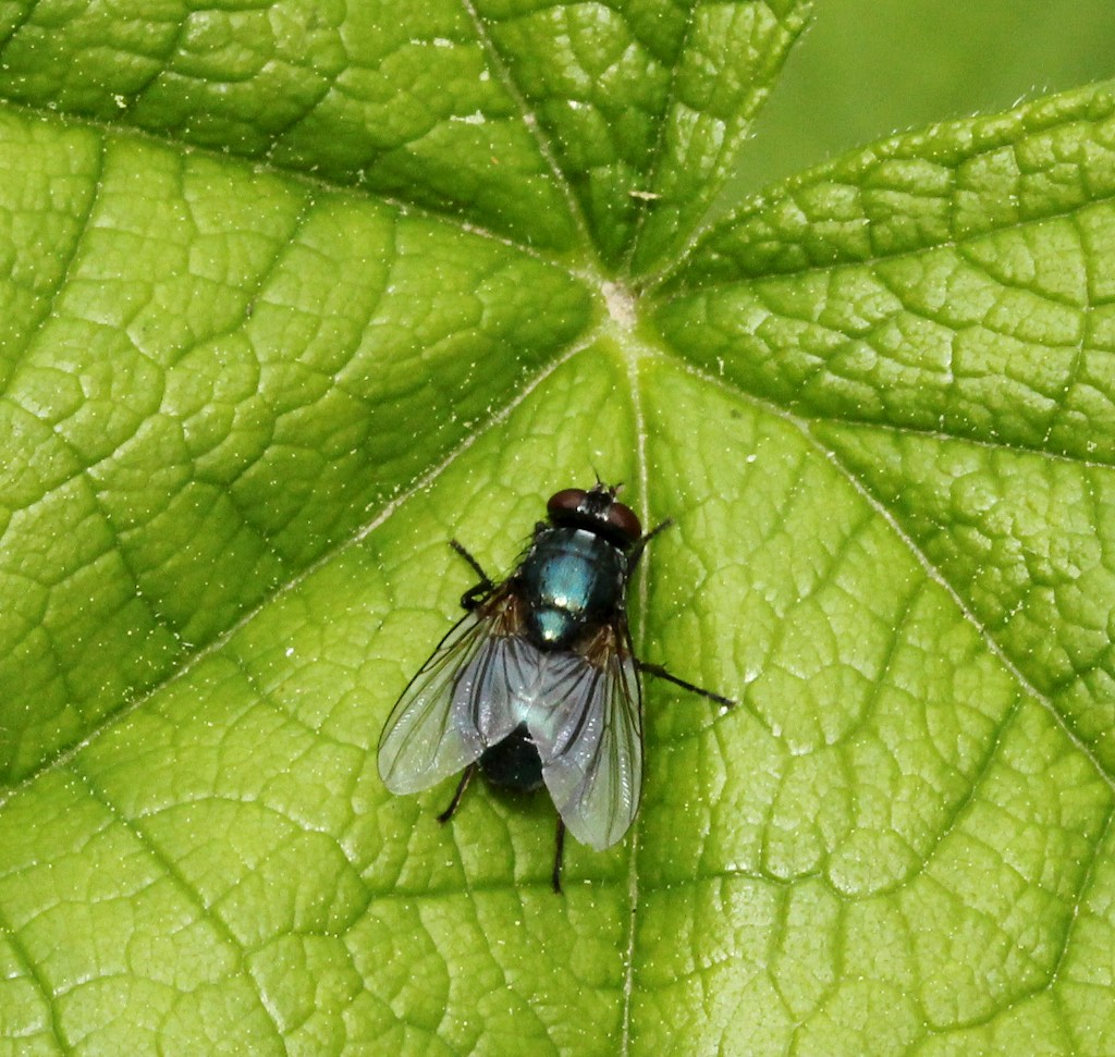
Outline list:
[[[392,793],[436,785],[515,728],[515,689],[534,667],[516,622],[515,599],[493,597],[457,623],[410,680],[379,738],[379,774]]]

